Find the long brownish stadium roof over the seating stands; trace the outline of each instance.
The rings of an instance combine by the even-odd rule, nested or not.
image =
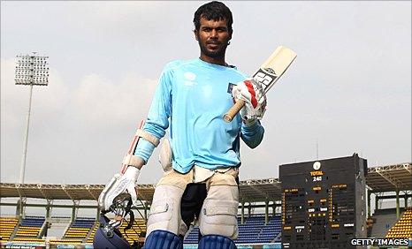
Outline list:
[[[412,164],[401,163],[368,169],[366,184],[373,192],[412,190]],[[104,185],[0,184],[0,197],[46,200],[97,200]],[[138,185],[139,198],[151,201],[155,185]],[[240,201],[281,200],[277,178],[240,181]]]

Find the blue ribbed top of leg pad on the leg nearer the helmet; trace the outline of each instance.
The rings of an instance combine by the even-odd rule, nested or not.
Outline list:
[[[154,230],[146,238],[143,248],[183,249],[183,239],[167,230]]]

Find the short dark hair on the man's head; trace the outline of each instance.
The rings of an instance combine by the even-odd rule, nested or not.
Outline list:
[[[195,24],[195,30],[199,30],[201,27],[201,19],[205,18],[208,20],[221,20],[225,19],[227,21],[227,29],[230,33],[232,33],[232,24],[233,24],[233,17],[232,11],[229,8],[217,1],[212,1],[208,4],[203,4],[202,6],[195,11],[195,17],[193,19],[193,23]]]

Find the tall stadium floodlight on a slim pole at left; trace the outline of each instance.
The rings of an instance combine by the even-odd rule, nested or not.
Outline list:
[[[49,84],[49,67],[48,58],[44,56],[36,56],[36,52],[32,55],[19,55],[16,65],[15,83],[16,85],[30,86],[30,96],[28,100],[27,110],[27,125],[23,141],[23,157],[21,159],[19,183],[24,184],[26,157],[27,157],[27,141],[28,127],[30,124],[30,112],[32,109],[33,86],[47,86]]]

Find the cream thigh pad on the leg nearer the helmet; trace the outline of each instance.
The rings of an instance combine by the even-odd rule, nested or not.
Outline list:
[[[147,235],[153,230],[181,233],[180,201],[183,190],[172,185],[156,186],[150,207]],[[186,232],[186,231],[185,231]]]

